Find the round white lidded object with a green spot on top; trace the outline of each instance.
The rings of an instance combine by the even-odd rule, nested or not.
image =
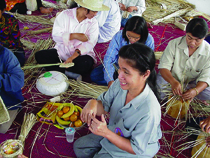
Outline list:
[[[68,89],[67,80],[68,78],[63,73],[49,71],[39,76],[36,88],[45,95],[56,96]]]

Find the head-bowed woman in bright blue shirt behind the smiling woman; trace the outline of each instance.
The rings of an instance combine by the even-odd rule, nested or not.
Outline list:
[[[104,56],[103,64],[96,67],[91,72],[91,80],[99,85],[108,85],[117,78],[117,72],[113,64],[118,67],[118,52],[124,45],[142,43],[154,50],[154,39],[149,34],[147,23],[143,17],[131,17],[123,30],[115,34],[111,40],[107,52]]]

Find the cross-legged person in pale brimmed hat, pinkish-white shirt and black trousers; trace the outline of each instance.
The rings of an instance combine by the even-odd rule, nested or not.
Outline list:
[[[94,46],[98,40],[99,27],[94,18],[98,11],[107,11],[103,0],[75,0],[80,6],[62,11],[55,19],[52,31],[56,42],[54,49],[35,54],[39,64],[74,63],[70,68],[46,67],[46,70],[65,72],[71,78],[81,79],[96,63]]]

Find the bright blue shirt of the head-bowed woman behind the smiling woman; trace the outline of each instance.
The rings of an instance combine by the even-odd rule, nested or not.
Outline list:
[[[122,37],[122,31],[120,30],[116,35],[113,37],[109,44],[109,48],[106,51],[106,54],[104,56],[104,79],[109,83],[109,81],[114,80],[113,74],[115,72],[115,68],[113,64],[118,66],[118,52],[120,48],[124,45],[128,45],[127,41]],[[150,47],[152,50],[154,50],[154,39],[151,34],[148,34],[147,40],[145,42],[145,45]]]

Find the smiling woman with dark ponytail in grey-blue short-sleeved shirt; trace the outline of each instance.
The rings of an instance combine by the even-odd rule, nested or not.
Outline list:
[[[92,133],[74,143],[78,158],[146,158],[160,148],[161,108],[154,52],[144,44],[129,44],[120,49],[118,63],[118,79],[83,108],[81,119]]]

